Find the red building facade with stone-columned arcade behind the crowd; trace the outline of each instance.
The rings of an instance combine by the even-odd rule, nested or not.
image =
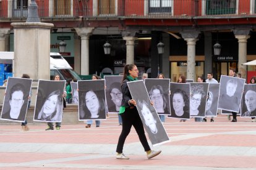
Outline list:
[[[12,22],[25,22],[30,0],[0,1],[0,51],[13,49]],[[159,72],[216,79],[236,68],[256,75],[255,0],[36,0],[41,22],[53,23],[51,51],[67,42],[64,57],[81,75],[121,73],[136,63],[140,73]],[[103,45],[111,44],[110,54]],[[158,42],[164,53],[158,54]],[[220,55],[213,46],[221,44]]]

